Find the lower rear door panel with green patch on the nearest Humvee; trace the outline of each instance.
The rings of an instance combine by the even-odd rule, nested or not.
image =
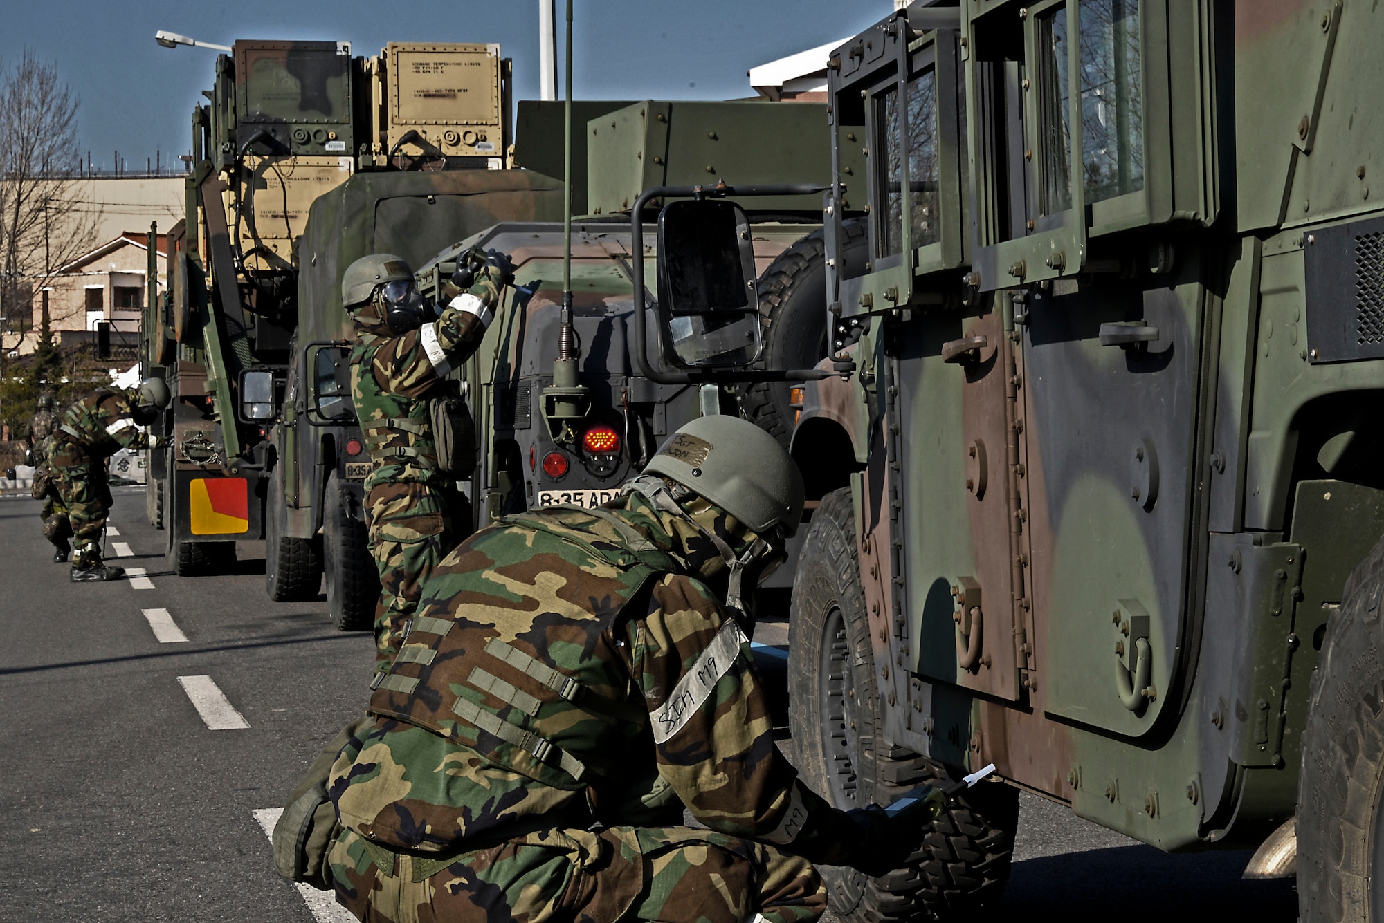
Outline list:
[[[1193,254],[1178,285],[1039,289],[1016,316],[1046,709],[1127,735],[1174,698],[1200,474],[1199,272]]]

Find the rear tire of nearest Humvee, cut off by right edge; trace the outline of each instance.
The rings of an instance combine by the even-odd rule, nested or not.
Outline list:
[[[1297,880],[1304,923],[1384,919],[1384,540],[1327,623],[1302,731]]]

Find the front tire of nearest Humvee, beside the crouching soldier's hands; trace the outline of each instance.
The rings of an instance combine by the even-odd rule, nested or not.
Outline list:
[[[799,558],[789,618],[789,728],[803,779],[848,810],[889,804],[947,768],[884,742],[850,488],[828,493]],[[1009,879],[1019,793],[981,785],[952,800],[911,864],[871,879],[823,866],[828,906],[843,920],[959,919]]]

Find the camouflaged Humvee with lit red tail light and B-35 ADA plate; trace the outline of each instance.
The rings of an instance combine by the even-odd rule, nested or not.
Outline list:
[[[664,101],[630,104],[585,122],[585,181],[574,206],[585,216],[573,224],[566,339],[561,224],[497,224],[418,268],[422,292],[436,298],[458,257],[473,246],[498,249],[516,267],[504,311],[455,373],[476,420],[476,466],[466,492],[477,528],[540,506],[603,503],[681,423],[709,409],[735,412],[743,392],[660,384],[641,372],[630,345],[638,326],[634,279],[645,264],[652,268],[656,236],[641,232],[634,242],[631,213],[650,182],[796,180],[803,188],[790,195],[746,200],[756,220],[747,278],[779,292],[785,264],[804,242],[821,238],[818,189],[829,177],[823,122],[819,104]],[[537,156],[522,153],[525,146],[520,134],[518,159]],[[821,289],[811,287],[808,297],[821,303]],[[768,314],[764,321],[770,326],[763,340],[774,344]],[[812,361],[825,350],[825,303],[814,321]],[[563,355],[576,362],[574,386],[558,370]],[[646,358],[666,369],[656,351]]]

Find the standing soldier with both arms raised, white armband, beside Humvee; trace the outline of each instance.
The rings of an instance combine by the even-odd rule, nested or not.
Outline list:
[[[422,582],[469,526],[455,478],[439,470],[429,402],[455,394],[446,376],[480,345],[508,280],[498,256],[487,263],[479,254],[472,265],[454,276],[458,294],[440,315],[422,300],[400,257],[364,257],[342,276],[342,303],[357,334],[352,398],[374,463],[365,508],[382,587],[378,669],[399,649]]]

